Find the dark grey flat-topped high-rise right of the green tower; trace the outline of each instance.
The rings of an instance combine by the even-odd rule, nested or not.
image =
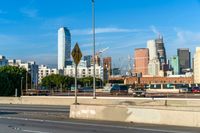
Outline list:
[[[190,51],[188,48],[179,48],[177,49],[177,55],[179,58],[179,65],[180,65],[180,73],[185,74],[187,69],[191,67],[191,60],[190,60]]]

